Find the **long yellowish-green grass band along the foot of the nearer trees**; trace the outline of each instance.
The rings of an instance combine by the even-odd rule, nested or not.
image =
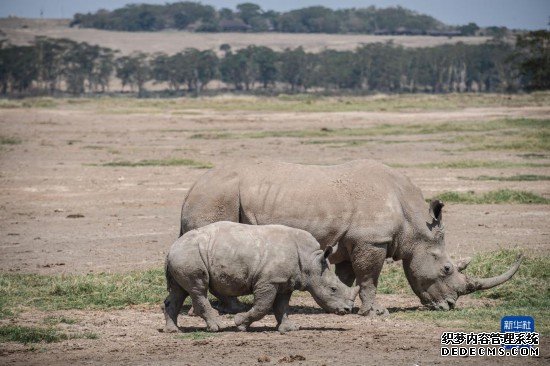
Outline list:
[[[348,112],[348,111],[418,111],[454,110],[475,107],[524,107],[546,106],[550,93],[529,94],[402,94],[371,96],[321,96],[315,94],[280,95],[260,97],[219,95],[200,98],[26,98],[0,100],[0,108],[51,108],[88,109],[98,113],[197,113],[215,111],[261,112]]]

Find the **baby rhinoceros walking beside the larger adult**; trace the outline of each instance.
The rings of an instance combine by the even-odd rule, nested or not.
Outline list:
[[[207,330],[216,332],[221,321],[207,298],[254,294],[252,308],[235,315],[239,330],[273,310],[277,329],[299,329],[288,320],[292,291],[311,293],[317,304],[331,313],[352,310],[359,288],[342,283],[329,269],[325,251],[306,231],[281,225],[243,225],[216,222],[180,237],[166,258],[170,294],[164,301],[165,332],[177,332],[177,316],[183,301],[191,296],[195,314]]]

